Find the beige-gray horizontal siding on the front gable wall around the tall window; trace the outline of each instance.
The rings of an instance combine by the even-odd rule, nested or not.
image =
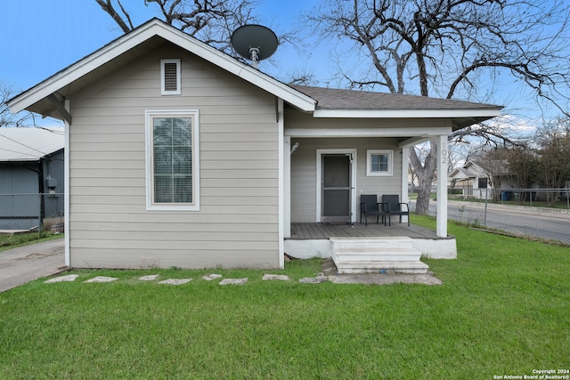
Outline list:
[[[279,266],[275,99],[169,45],[70,100],[73,267]],[[182,95],[160,95],[160,59]],[[198,109],[199,211],[147,211],[145,110]]]

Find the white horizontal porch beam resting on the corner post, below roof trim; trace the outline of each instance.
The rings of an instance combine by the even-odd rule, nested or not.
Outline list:
[[[451,126],[410,128],[285,128],[285,135],[291,137],[402,137],[402,136],[439,136],[452,133]]]

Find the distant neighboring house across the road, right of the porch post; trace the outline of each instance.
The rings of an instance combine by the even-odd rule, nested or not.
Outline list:
[[[464,166],[453,170],[449,179],[450,186],[462,190],[462,196],[467,198],[493,198],[490,190],[517,189],[517,179],[510,174],[504,160],[469,160]],[[499,195],[501,193],[494,193],[495,197]],[[501,196],[508,197],[509,192],[503,191]]]

